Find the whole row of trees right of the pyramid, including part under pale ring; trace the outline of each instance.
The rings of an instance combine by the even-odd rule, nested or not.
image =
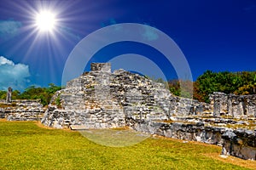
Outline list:
[[[209,102],[213,92],[256,94],[256,71],[205,71],[195,82],[175,79],[168,81],[168,86],[172,94],[182,97],[191,96],[193,87],[193,98],[203,102]]]

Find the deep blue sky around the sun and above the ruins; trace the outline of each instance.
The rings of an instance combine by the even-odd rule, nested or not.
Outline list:
[[[42,33],[35,27],[42,9],[55,12],[55,31]],[[0,89],[61,85],[65,62],[79,41],[119,23],[145,24],[165,32],[182,50],[194,80],[207,70],[256,71],[253,0],[0,0]],[[144,33],[157,38],[150,31]],[[90,60],[105,62],[131,53],[154,60],[167,79],[177,77],[164,56],[135,42],[109,45]]]

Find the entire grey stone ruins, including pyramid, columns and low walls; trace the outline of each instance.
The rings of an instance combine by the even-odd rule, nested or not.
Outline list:
[[[131,127],[167,138],[218,144],[223,155],[255,160],[256,95],[216,92],[210,100],[207,104],[177,97],[147,77],[122,69],[111,72],[110,63],[92,63],[89,72],[55,93],[46,111],[36,101],[27,101],[30,107],[2,108],[0,116],[10,121],[39,117],[45,126],[73,130]]]

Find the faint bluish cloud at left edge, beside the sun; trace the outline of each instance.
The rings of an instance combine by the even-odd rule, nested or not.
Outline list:
[[[0,38],[8,39],[15,37],[20,31],[20,21],[15,20],[0,20]]]

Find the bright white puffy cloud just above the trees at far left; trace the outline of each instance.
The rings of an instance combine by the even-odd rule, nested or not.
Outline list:
[[[11,87],[14,90],[23,90],[30,77],[29,67],[24,64],[15,64],[12,60],[0,56],[0,90]]]

